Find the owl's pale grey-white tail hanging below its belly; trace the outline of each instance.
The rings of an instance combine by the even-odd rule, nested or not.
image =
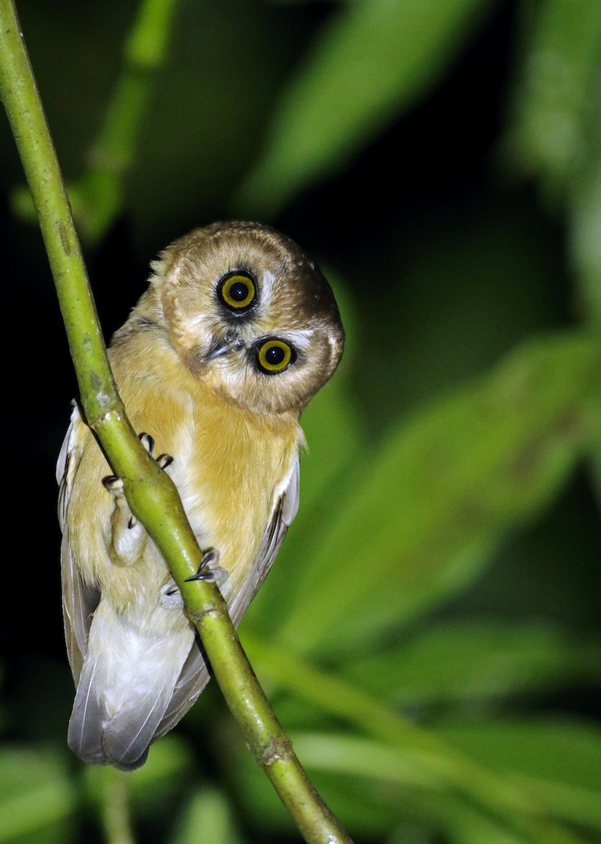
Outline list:
[[[90,765],[133,771],[146,761],[193,635],[141,633],[102,603],[89,631],[68,745]]]

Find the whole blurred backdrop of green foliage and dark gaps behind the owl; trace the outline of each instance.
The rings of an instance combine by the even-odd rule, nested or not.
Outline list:
[[[324,798],[365,844],[601,841],[601,4],[18,5],[107,334],[160,248],[234,214],[336,291],[345,358],[241,625]],[[44,597],[3,635],[0,841],[124,844],[127,799],[137,840],[295,841],[213,688],[131,776],[66,749],[74,382],[8,129],[0,155],[10,527]]]

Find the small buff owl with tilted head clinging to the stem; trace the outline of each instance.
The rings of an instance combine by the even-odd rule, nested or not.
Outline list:
[[[198,544],[214,549],[237,625],[295,517],[300,413],[336,369],[344,331],[315,263],[266,226],[209,225],[152,266],[111,367]],[[57,479],[77,686],[68,744],[86,762],[133,770],[196,701],[207,668],[165,560],[77,408]]]

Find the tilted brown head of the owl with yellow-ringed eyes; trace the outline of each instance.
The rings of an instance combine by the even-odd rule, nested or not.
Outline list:
[[[321,271],[284,235],[252,223],[192,231],[153,265],[142,310],[187,369],[257,413],[300,410],[332,376],[344,331]],[[159,319],[157,319],[159,317]]]

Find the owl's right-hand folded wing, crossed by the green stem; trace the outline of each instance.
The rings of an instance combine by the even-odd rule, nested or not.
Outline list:
[[[259,587],[265,580],[269,569],[278,555],[279,547],[284,542],[284,537],[290,524],[292,523],[296,513],[299,509],[299,458],[295,458],[295,463],[290,473],[288,485],[284,491],[277,495],[272,517],[269,520],[267,530],[263,534],[261,547],[257,554],[257,559],[252,565],[251,571],[246,576],[246,580],[236,595],[233,595],[228,609],[230,618],[237,627],[240,624],[241,618],[246,612],[248,604],[251,603],[252,598],[255,597]],[[186,714],[188,709],[197,700],[198,695],[208,683],[208,670],[204,662],[203,652],[201,650],[200,641],[197,639],[192,646],[186,662],[181,668],[181,674],[176,683],[176,688],[173,692],[173,697],[165,717],[160,722],[154,739],[160,738],[169,732],[175,724]]]

